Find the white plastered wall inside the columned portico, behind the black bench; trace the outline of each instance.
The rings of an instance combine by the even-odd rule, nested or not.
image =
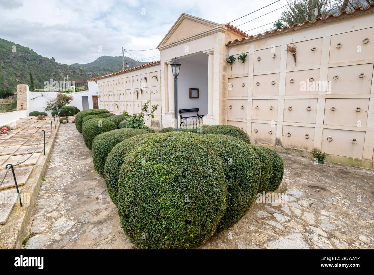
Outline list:
[[[208,113],[208,56],[181,58],[182,64],[178,76],[178,110],[199,108],[199,114]],[[190,88],[198,88],[199,98],[189,98]],[[190,116],[196,113],[185,113]]]

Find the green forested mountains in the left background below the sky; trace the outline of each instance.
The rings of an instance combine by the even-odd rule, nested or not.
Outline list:
[[[145,64],[125,57],[129,68]],[[87,80],[122,70],[122,56],[101,56],[88,64],[61,64],[55,59],[41,56],[32,49],[0,38],[0,90],[10,88],[16,92],[17,84],[30,85],[30,72],[34,87],[44,88],[44,82],[51,78],[75,81],[76,86],[87,85]]]

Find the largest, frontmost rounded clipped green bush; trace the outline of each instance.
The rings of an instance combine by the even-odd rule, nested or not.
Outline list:
[[[194,248],[213,235],[226,210],[226,164],[196,135],[155,134],[120,168],[122,228],[139,248]]]

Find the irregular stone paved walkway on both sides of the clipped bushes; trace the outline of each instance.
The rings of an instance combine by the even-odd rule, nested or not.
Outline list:
[[[373,248],[374,171],[282,154],[288,201],[255,204],[202,248]],[[73,123],[61,125],[26,248],[135,248]]]

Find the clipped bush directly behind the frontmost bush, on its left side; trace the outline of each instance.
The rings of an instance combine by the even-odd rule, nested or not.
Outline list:
[[[123,159],[131,150],[134,150],[142,141],[152,135],[153,134],[137,135],[125,141],[121,141],[114,146],[108,154],[105,161],[104,178],[109,196],[115,205],[117,205],[119,169],[123,164]]]

